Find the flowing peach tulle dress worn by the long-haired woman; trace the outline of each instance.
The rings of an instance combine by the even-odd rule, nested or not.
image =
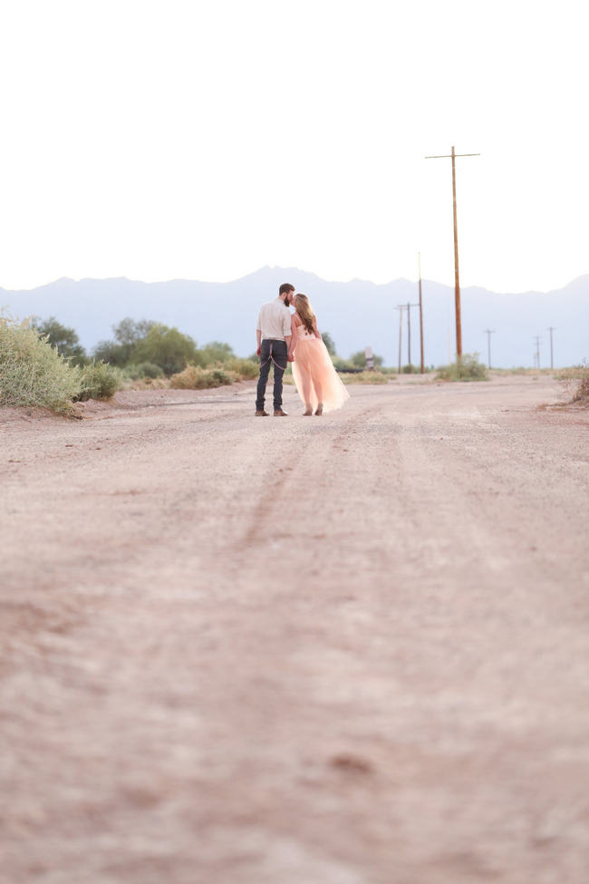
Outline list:
[[[327,347],[321,338],[309,335],[304,325],[296,328],[293,377],[301,402],[311,403],[313,410],[322,402],[323,412],[333,412],[350,398]]]

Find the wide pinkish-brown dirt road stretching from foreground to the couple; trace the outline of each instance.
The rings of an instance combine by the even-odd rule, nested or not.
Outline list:
[[[2,884],[584,884],[589,416],[351,392],[0,423]]]

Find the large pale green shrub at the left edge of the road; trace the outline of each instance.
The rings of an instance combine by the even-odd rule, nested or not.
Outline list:
[[[60,355],[28,320],[0,316],[0,404],[68,412],[80,389],[80,369]]]

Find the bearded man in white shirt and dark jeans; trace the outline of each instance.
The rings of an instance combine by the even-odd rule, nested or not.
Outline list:
[[[288,305],[293,296],[294,286],[283,283],[278,289],[278,297],[260,307],[256,325],[256,353],[260,357],[260,376],[257,381],[256,417],[268,417],[264,407],[266,384],[270,364],[274,365],[274,416],[286,417],[282,408],[282,377],[287,362],[291,341],[290,310]]]

